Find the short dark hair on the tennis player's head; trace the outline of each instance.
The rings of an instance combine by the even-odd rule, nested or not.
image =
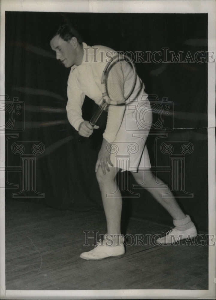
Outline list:
[[[67,23],[62,23],[55,28],[50,35],[49,41],[51,41],[56,35],[59,35],[60,38],[66,42],[70,41],[73,37],[77,38],[78,42],[80,42],[78,32],[76,32],[76,30]]]

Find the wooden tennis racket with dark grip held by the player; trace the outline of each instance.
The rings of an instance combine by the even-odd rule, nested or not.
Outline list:
[[[106,65],[101,79],[103,102],[93,114],[89,123],[94,126],[109,105],[124,104],[131,96],[136,85],[137,74],[134,63],[126,55],[117,54]],[[86,137],[79,136],[84,143]]]

